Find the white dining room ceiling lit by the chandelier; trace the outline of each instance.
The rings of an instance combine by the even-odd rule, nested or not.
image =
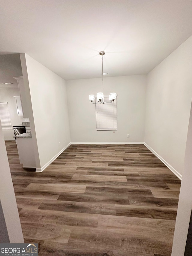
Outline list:
[[[66,80],[147,74],[192,35],[191,0],[17,0],[0,8],[0,54]]]

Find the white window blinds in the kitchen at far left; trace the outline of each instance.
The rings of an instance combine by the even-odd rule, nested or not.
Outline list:
[[[0,102],[0,119],[3,130],[12,130],[8,102]]]

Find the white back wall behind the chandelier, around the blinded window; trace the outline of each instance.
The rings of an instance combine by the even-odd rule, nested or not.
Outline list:
[[[104,77],[104,95],[116,92],[117,131],[96,131],[95,104],[89,94],[102,91],[102,79],[67,81],[72,142],[143,142],[146,75]],[[130,138],[127,138],[130,134]]]

